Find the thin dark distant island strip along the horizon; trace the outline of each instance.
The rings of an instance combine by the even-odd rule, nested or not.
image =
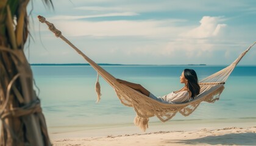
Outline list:
[[[206,64],[109,64],[98,63],[99,66],[206,66]],[[31,66],[90,66],[88,63],[32,63]]]

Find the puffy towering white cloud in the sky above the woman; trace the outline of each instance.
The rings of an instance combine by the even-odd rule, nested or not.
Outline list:
[[[164,57],[184,57],[186,59],[194,57],[208,58],[213,56],[214,49],[216,50],[215,40],[221,38],[224,33],[224,27],[226,24],[218,24],[220,21],[224,21],[224,17],[211,17],[203,16],[200,26],[190,28],[187,26],[180,27],[176,30],[176,35],[170,38],[169,43],[162,45],[156,52],[149,51],[152,54],[162,55]],[[168,29],[176,29],[175,27],[166,27]],[[162,32],[163,34],[165,32]],[[221,34],[222,35],[219,35]],[[171,35],[169,35],[171,37]],[[214,38],[214,39],[213,39]],[[133,49],[130,52],[144,52],[152,49]]]

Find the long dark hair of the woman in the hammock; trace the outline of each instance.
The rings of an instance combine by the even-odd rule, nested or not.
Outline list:
[[[200,92],[196,72],[193,69],[184,69],[184,76],[188,80],[188,89],[191,91],[191,98],[194,99]]]

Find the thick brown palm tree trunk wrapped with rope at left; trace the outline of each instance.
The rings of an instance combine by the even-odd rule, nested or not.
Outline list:
[[[40,100],[33,89],[32,71],[23,52],[28,35],[28,2],[0,2],[1,146],[51,145]]]

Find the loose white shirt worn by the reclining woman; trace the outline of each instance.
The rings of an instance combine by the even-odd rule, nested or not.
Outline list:
[[[190,93],[188,91],[171,92],[166,96],[160,97],[163,101],[168,103],[183,103],[190,100]]]

